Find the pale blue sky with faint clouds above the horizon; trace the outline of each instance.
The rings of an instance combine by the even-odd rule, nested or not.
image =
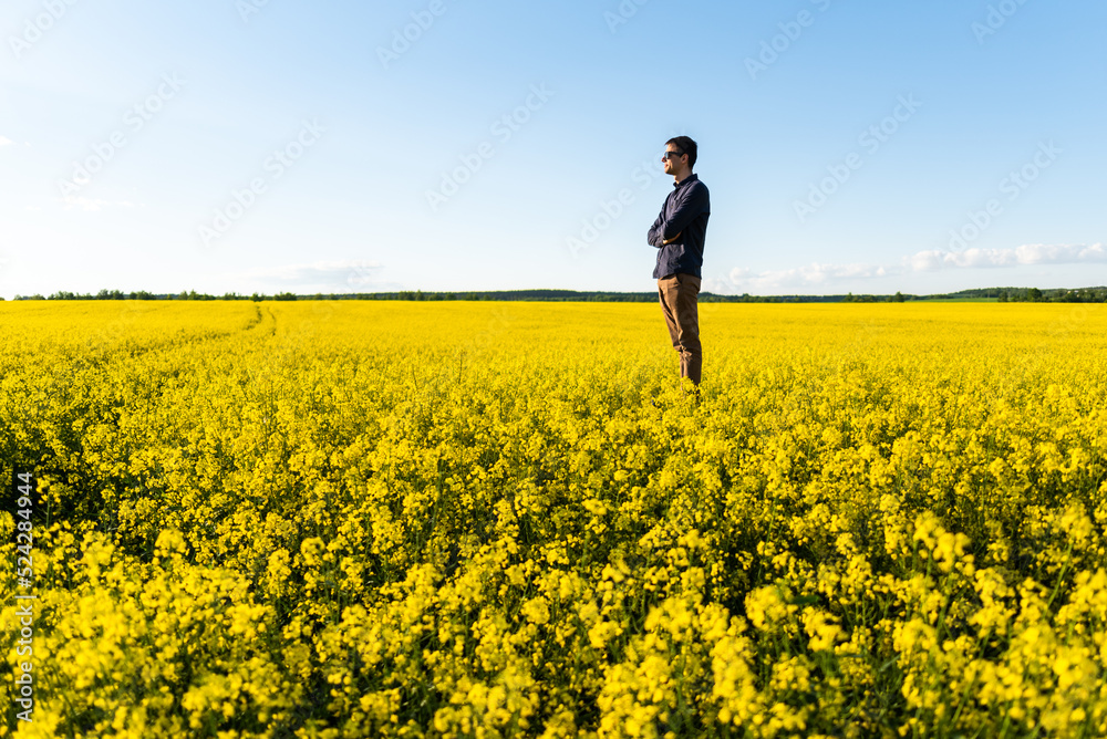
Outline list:
[[[8,0],[0,295],[1107,283],[1100,0]]]

